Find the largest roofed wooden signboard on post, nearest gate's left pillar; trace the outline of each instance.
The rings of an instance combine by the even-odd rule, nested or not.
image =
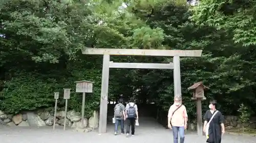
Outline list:
[[[87,80],[81,80],[76,81],[76,92],[82,93],[82,117],[81,117],[81,123],[82,128],[84,128],[84,104],[86,102],[86,93],[92,93],[93,92],[93,83],[92,81]]]

